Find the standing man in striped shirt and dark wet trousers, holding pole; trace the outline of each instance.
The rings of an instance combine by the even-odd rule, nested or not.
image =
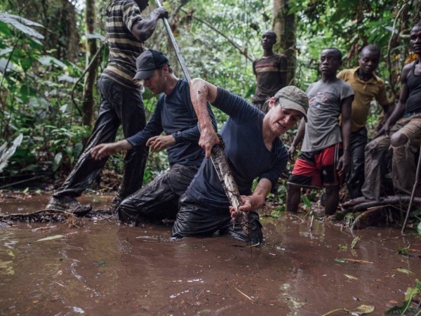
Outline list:
[[[146,125],[145,106],[140,86],[133,82],[135,60],[144,51],[144,41],[151,37],[160,18],[168,16],[164,7],[154,9],[148,18],[140,14],[149,0],[114,0],[107,8],[109,62],[98,81],[101,105],[91,138],[65,183],[54,192],[47,209],[74,211],[79,197],[98,176],[107,158],[97,161],[91,149],[116,138],[120,124],[125,138],[135,135]],[[124,175],[119,192],[112,202],[116,209],[121,199],[142,187],[147,148],[128,150],[124,158]]]

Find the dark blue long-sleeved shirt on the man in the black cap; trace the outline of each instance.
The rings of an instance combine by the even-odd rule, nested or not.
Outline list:
[[[209,105],[208,112],[213,126],[216,126],[216,120]],[[149,138],[158,136],[163,131],[175,138],[175,144],[167,148],[170,166],[174,164],[200,166],[205,152],[199,146],[200,132],[196,112],[190,99],[189,84],[185,79],[178,80],[168,96],[163,93],[159,97],[155,112],[145,129],[127,140],[133,147],[145,146]]]

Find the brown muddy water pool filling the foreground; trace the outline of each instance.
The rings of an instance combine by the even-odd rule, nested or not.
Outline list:
[[[111,198],[83,202],[102,209]],[[42,209],[47,199],[4,199],[1,213]],[[0,315],[323,315],[362,304],[382,315],[421,278],[421,253],[397,251],[421,249],[419,237],[309,222],[262,218],[265,244],[251,250],[227,236],[174,242],[165,225],[13,223],[0,228]]]

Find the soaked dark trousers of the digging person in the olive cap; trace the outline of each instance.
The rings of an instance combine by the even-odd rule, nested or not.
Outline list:
[[[212,236],[215,232],[229,234],[236,239],[249,242],[248,235],[239,225],[232,225],[228,207],[217,209],[196,204],[188,195],[180,197],[179,211],[173,226],[172,237],[182,238],[190,236]],[[251,242],[263,242],[262,225],[256,211],[248,213],[251,227]]]

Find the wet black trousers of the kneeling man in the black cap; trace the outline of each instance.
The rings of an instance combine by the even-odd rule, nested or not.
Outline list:
[[[175,164],[170,171],[133,193],[119,205],[119,220],[123,223],[139,225],[175,219],[178,199],[187,190],[198,167]]]

